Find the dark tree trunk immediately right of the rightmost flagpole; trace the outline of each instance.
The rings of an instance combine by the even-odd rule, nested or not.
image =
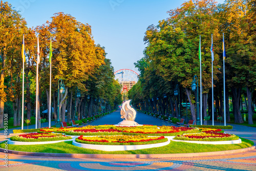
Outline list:
[[[233,114],[234,123],[244,123],[241,111],[239,110],[239,99],[241,96],[241,88],[231,88],[232,91],[232,102],[233,102]]]

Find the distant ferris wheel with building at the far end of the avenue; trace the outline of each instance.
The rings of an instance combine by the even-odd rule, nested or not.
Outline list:
[[[138,75],[135,71],[129,69],[121,69],[116,71],[115,79],[121,84],[121,94],[123,100],[127,100],[128,91],[138,82]]]

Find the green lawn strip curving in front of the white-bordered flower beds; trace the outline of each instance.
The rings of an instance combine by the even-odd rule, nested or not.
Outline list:
[[[72,145],[72,141],[59,142],[45,145],[8,145],[9,150],[20,152],[38,152],[38,153],[67,153],[67,154],[178,154],[178,153],[202,153],[227,151],[232,149],[247,148],[253,145],[253,142],[244,138],[241,144],[211,145],[194,144],[186,142],[171,141],[168,145],[156,148],[138,149],[136,151],[117,151],[105,152],[95,149],[80,148]],[[5,148],[5,144],[0,144]]]

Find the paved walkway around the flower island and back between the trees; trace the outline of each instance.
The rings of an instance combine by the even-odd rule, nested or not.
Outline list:
[[[89,124],[117,124],[120,121],[120,112],[114,112]],[[138,113],[136,122],[172,125],[142,113]],[[218,125],[218,122],[215,125]],[[225,132],[248,138],[256,143],[255,127],[233,125],[233,131]],[[150,159],[89,159],[8,154],[8,168],[4,166],[4,157],[5,153],[0,153],[0,170],[256,170],[256,149],[236,154],[199,157],[186,157],[184,154],[183,157],[166,158],[163,154],[161,158]]]

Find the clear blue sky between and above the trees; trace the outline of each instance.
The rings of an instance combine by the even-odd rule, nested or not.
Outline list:
[[[183,0],[10,0],[20,11],[28,27],[51,20],[54,13],[71,14],[78,22],[92,26],[95,44],[105,47],[114,70],[131,69],[143,57],[146,28],[166,19],[170,9]],[[224,0],[218,0],[223,3]],[[139,74],[139,73],[138,73]]]

